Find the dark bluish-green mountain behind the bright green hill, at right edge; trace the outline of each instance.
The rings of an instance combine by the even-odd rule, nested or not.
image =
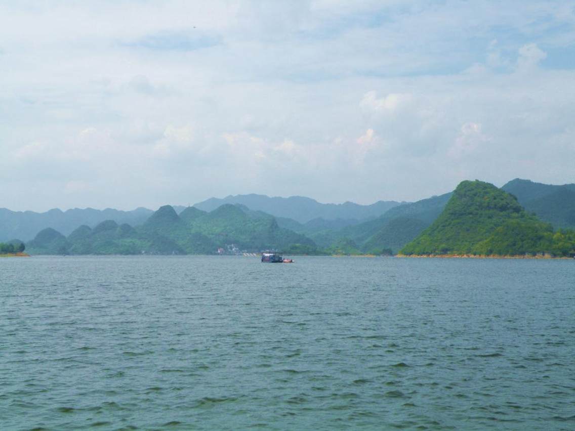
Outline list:
[[[555,228],[575,228],[575,184],[555,186],[516,178],[501,188]]]

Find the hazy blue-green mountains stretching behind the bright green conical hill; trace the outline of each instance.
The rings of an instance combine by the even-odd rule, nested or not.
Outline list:
[[[575,228],[575,184],[554,186],[514,179],[500,190],[513,195],[514,200],[528,214],[548,222],[553,228]],[[379,201],[373,205],[349,202],[335,205],[302,197],[237,195],[208,199],[193,207],[164,206],[160,208],[161,211],[155,212],[144,208],[134,211],[51,210],[41,214],[0,210],[0,241],[12,238],[28,241],[39,230],[51,228],[66,238],[66,250],[72,253],[104,253],[107,250],[107,246],[104,247],[101,242],[104,238],[106,241],[116,241],[116,245],[110,247],[120,253],[132,253],[137,248],[140,248],[139,252],[151,253],[164,253],[168,250],[171,250],[170,253],[213,253],[222,245],[232,243],[250,251],[258,247],[290,249],[291,245],[295,247],[297,244],[300,252],[308,253],[397,253],[438,219],[452,197],[453,193],[447,193],[411,203]],[[222,204],[224,201],[235,203]],[[248,202],[252,206],[241,202]],[[158,226],[151,229],[155,220],[167,217],[164,214],[166,211],[172,217],[174,214],[177,216],[177,219],[173,217],[174,224],[162,229]],[[219,224],[215,222],[218,214]],[[285,217],[287,214],[297,214],[298,220]],[[366,218],[347,218],[352,216]],[[241,223],[245,224],[245,220],[250,220],[251,224],[242,227]],[[259,220],[258,227],[248,229],[248,225],[254,227],[254,220]],[[76,229],[79,226],[82,228]],[[118,230],[119,237],[111,236],[112,228]],[[91,229],[90,235],[88,229]],[[266,229],[275,233],[266,237],[263,233]],[[47,232],[49,237],[55,237],[51,230]],[[108,233],[103,235],[101,232]],[[280,236],[287,235],[291,242],[281,241],[274,236],[279,232]],[[74,235],[70,237],[72,233]],[[85,236],[81,241],[83,245],[78,243],[81,234]],[[188,243],[182,243],[181,237],[189,237],[191,234],[194,235],[197,247],[192,244],[193,241],[190,243],[190,238]],[[166,243],[165,240],[173,241],[178,247],[173,247],[174,244]],[[39,243],[34,241],[28,241],[32,250],[45,249],[38,247]],[[90,241],[95,244],[95,248],[86,245]],[[118,249],[118,244],[124,248]],[[160,244],[166,247],[159,247]],[[48,248],[53,251],[52,246]]]

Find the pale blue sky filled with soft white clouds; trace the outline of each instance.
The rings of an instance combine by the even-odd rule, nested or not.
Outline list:
[[[0,207],[575,182],[575,0],[0,0]]]

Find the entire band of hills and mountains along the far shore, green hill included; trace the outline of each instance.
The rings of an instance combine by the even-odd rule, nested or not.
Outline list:
[[[575,184],[553,186],[515,179],[503,190],[511,195],[476,181],[459,184],[454,193],[401,204],[333,205],[302,197],[239,195],[186,208],[166,205],[155,212],[51,210],[41,215],[44,221],[61,222],[72,216],[70,220],[88,216],[95,220],[108,213],[113,217],[93,224],[78,222],[73,231],[68,224],[66,231],[60,231],[67,237],[58,230],[43,229],[27,245],[32,253],[72,255],[213,254],[218,248],[228,252],[232,244],[236,252],[276,249],[292,255],[389,255],[401,250],[423,255],[565,256],[572,252],[569,228],[575,228]],[[236,201],[240,203],[227,203]],[[293,218],[274,217],[262,209]],[[0,226],[6,211],[0,209]],[[38,218],[30,211],[12,216],[4,225],[9,230],[17,230],[28,218]],[[141,224],[121,223],[122,217],[139,217]]]

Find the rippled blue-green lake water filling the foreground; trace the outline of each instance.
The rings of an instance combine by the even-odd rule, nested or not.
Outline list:
[[[575,429],[575,261],[0,259],[0,429]]]

